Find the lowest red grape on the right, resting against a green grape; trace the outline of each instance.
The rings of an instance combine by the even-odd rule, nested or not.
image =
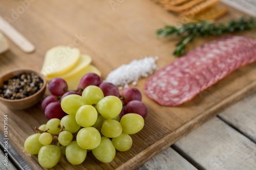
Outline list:
[[[142,102],[135,100],[127,103],[127,105],[124,108],[124,113],[137,113],[141,115],[143,118],[145,118],[147,115],[147,109]]]

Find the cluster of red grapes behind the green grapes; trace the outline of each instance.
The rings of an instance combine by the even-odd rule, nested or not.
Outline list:
[[[41,108],[45,112],[46,118],[61,119],[63,116],[67,115],[67,113],[61,109],[61,100],[70,94],[81,95],[83,90],[90,85],[98,86],[104,96],[114,95],[122,101],[123,108],[119,114],[120,118],[126,113],[137,113],[143,118],[146,117],[147,109],[141,102],[142,95],[137,88],[127,88],[120,94],[116,85],[110,82],[102,82],[97,74],[91,72],[81,78],[77,91],[69,91],[67,82],[62,78],[53,78],[48,83],[48,90],[52,95],[47,96],[41,103]]]

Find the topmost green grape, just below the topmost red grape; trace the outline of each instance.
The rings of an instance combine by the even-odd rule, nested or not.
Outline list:
[[[104,98],[104,94],[98,86],[90,85],[83,90],[82,98],[86,100],[88,105],[96,105],[102,98]]]

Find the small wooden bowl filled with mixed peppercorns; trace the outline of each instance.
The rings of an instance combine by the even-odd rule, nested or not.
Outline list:
[[[38,103],[46,90],[46,78],[38,70],[18,68],[0,75],[0,101],[10,109],[27,109]]]

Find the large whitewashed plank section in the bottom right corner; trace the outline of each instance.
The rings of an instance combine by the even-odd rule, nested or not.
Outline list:
[[[215,117],[174,144],[202,169],[256,169],[256,144]]]

